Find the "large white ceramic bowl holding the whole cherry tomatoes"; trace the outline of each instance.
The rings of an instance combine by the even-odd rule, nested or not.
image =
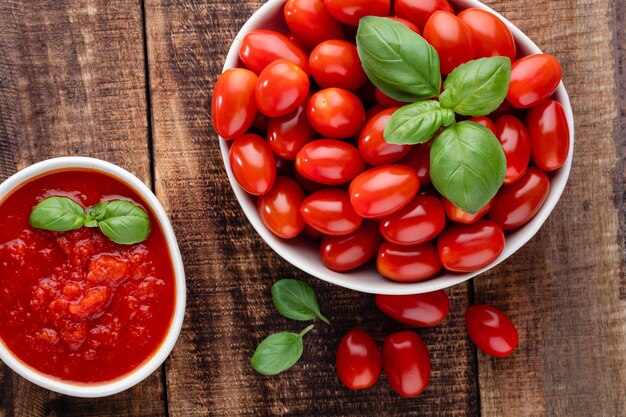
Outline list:
[[[241,47],[244,36],[254,29],[275,29],[284,31],[286,29],[284,20],[282,17],[282,9],[285,0],[269,0],[265,3],[243,26],[239,34],[235,38],[226,57],[226,63],[224,64],[224,71],[229,68],[242,66],[239,60],[239,49]],[[509,27],[515,41],[517,43],[518,51],[523,55],[541,53],[541,50],[531,41],[526,35],[524,35],[518,28],[516,28],[511,22],[500,16],[491,8],[485,6],[476,0],[450,0],[450,3],[455,10],[460,11],[470,7],[476,7],[479,9],[487,10],[496,16],[498,16]],[[220,138],[220,147],[222,151],[222,158],[226,165],[226,172],[228,173],[228,179],[233,186],[235,196],[239,200],[239,204],[248,217],[248,220],[256,231],[261,235],[263,240],[276,253],[289,261],[294,266],[307,272],[319,279],[331,282],[333,284],[340,285],[342,287],[351,288],[353,290],[374,293],[374,294],[415,294],[429,291],[435,291],[441,288],[447,288],[452,285],[459,284],[466,281],[488,269],[493,268],[506,258],[511,256],[515,251],[521,248],[526,242],[528,242],[537,233],[541,225],[546,221],[550,212],[554,209],[565,184],[572,166],[572,157],[574,153],[574,117],[572,114],[572,107],[570,105],[569,97],[563,83],[559,85],[555,93],[556,100],[558,100],[565,110],[567,122],[570,129],[570,151],[567,156],[565,165],[551,174],[551,186],[550,193],[537,215],[524,227],[508,233],[506,237],[506,244],[502,254],[493,261],[490,265],[482,268],[481,270],[466,273],[443,273],[436,278],[428,281],[418,283],[398,283],[387,280],[380,276],[375,268],[360,268],[356,271],[347,273],[338,273],[326,268],[319,256],[318,245],[312,243],[306,238],[296,238],[293,240],[283,240],[276,237],[272,232],[265,227],[256,209],[256,198],[247,194],[233,177],[233,173],[228,160],[229,142]]]

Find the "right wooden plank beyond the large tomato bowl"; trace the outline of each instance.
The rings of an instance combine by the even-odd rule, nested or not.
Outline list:
[[[479,355],[483,415],[626,415],[626,5],[487,3],[561,61],[577,142],[569,184],[546,225],[475,280],[476,301],[502,308],[520,331],[512,357]]]

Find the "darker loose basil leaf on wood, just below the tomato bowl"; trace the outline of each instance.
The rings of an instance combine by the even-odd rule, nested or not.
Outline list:
[[[306,282],[281,279],[272,285],[272,299],[278,312],[288,319],[307,321],[318,317],[330,324],[320,312],[315,291]]]

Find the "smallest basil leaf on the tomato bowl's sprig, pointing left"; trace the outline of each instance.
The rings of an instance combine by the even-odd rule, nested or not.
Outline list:
[[[420,101],[397,110],[385,126],[385,142],[413,145],[428,142],[441,126],[454,122],[454,112],[438,101]]]

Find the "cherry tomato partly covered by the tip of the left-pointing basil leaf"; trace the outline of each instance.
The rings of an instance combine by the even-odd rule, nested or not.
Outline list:
[[[370,165],[387,165],[402,159],[411,150],[411,145],[394,145],[385,142],[387,122],[398,108],[379,112],[368,121],[359,136],[359,152]]]

